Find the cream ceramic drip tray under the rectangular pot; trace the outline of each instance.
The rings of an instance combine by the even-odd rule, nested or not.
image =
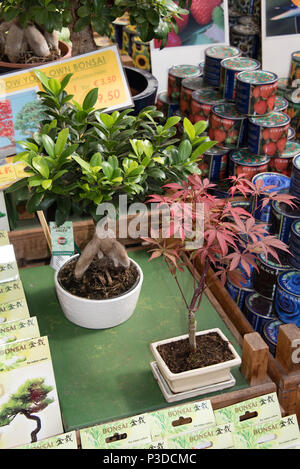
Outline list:
[[[156,362],[151,362],[150,367],[153,376],[158,382],[161,392],[163,393],[163,396],[167,402],[178,402],[184,399],[190,399],[196,396],[202,396],[212,392],[222,391],[223,389],[231,388],[236,383],[235,378],[230,373],[230,378],[227,381],[222,381],[221,383],[210,384],[208,386],[195,388],[190,391],[174,393],[173,391],[171,391],[164,377],[160,373]]]

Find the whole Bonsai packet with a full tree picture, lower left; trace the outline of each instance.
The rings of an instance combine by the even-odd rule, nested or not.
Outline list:
[[[48,337],[0,346],[0,449],[61,433]]]

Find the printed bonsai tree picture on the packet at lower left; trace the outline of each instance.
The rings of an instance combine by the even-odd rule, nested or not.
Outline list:
[[[42,425],[40,417],[36,414],[53,402],[53,399],[47,397],[52,389],[52,386],[45,385],[44,378],[27,380],[0,407],[0,427],[9,425],[17,415],[24,415],[27,419],[36,422],[36,428],[31,432],[31,443],[37,441]]]

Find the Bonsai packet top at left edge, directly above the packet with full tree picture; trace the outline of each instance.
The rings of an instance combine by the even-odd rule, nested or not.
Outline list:
[[[35,316],[0,324],[0,345],[36,337],[40,337],[40,330]]]

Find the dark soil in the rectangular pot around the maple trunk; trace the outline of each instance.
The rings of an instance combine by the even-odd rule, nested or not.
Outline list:
[[[196,343],[196,353],[191,352],[188,338],[159,345],[157,350],[172,373],[204,368],[235,358],[228,342],[217,332],[198,335]]]

